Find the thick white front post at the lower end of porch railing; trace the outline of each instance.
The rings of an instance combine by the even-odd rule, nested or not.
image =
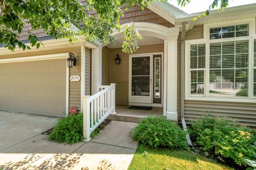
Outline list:
[[[83,109],[83,126],[84,126],[84,139],[90,141],[90,102],[88,101],[90,96],[84,96],[84,109]]]

